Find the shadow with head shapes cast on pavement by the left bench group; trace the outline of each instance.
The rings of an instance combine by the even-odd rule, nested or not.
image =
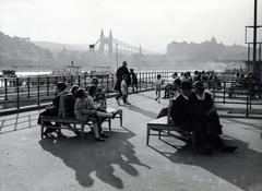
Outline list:
[[[91,133],[85,133],[82,141],[78,136],[45,139],[39,141],[43,150],[50,152],[63,160],[63,163],[75,171],[75,179],[82,187],[92,187],[95,172],[103,182],[117,189],[123,189],[124,184],[117,177],[112,165],[118,165],[123,171],[131,176],[139,176],[133,165],[150,168],[142,164],[135,156],[134,145],[128,140],[135,134],[126,129],[124,132],[112,132],[105,143],[95,142]],[[56,142],[56,143],[55,143]]]

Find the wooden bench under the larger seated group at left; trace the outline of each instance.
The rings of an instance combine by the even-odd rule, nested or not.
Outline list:
[[[52,129],[57,129],[59,132],[61,132],[61,129],[69,129],[69,130],[72,130],[72,131],[79,131],[81,133],[81,139],[83,140],[84,138],[84,127],[85,124],[90,126],[92,128],[93,126],[93,122],[92,121],[87,121],[87,122],[84,122],[84,121],[81,121],[81,120],[78,120],[76,118],[72,118],[72,117],[67,117],[67,108],[66,108],[66,105],[69,103],[69,98],[71,97],[72,95],[70,94],[66,94],[66,95],[62,95],[60,97],[60,103],[59,103],[59,111],[58,111],[58,117],[53,117],[53,116],[41,116],[41,129],[40,129],[40,135],[41,135],[41,139],[44,138],[44,129],[45,129],[45,121],[49,121],[49,122],[55,122],[55,123],[59,123],[59,126],[49,126],[49,127],[46,127],[46,128],[52,128]],[[112,112],[114,110],[116,110],[116,108],[111,108],[111,107],[107,107],[106,108],[106,111],[107,112]],[[120,127],[122,127],[122,110],[120,109],[119,112],[117,114],[116,118],[119,118],[120,120]],[[108,122],[108,129],[109,131],[111,131],[111,118],[108,118],[106,119],[105,121]],[[70,126],[70,124],[73,124]],[[80,124],[81,128],[80,129],[76,129],[76,124]]]

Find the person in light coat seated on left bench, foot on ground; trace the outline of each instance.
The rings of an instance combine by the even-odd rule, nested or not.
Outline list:
[[[83,88],[78,89],[76,92],[76,100],[74,105],[74,114],[76,119],[83,121],[92,121],[93,130],[95,133],[95,141],[104,142],[105,140],[100,138],[98,131],[98,118],[95,117],[95,110],[90,108],[90,104],[87,100],[87,95]]]

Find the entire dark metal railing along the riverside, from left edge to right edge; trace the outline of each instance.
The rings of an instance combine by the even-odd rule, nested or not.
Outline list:
[[[165,83],[170,83],[174,72],[152,71],[136,73],[139,92],[153,89],[157,74],[162,75]],[[106,91],[107,96],[116,93],[114,89],[116,84],[115,74],[98,74],[95,76],[99,80],[99,86]],[[228,72],[216,73],[216,76],[217,79],[206,80],[216,103],[246,105],[247,115],[253,105],[262,105],[261,82],[246,81],[237,83],[236,73]],[[64,82],[69,87],[78,84],[85,88],[91,83],[92,77],[94,77],[94,74],[1,77],[0,111],[7,109],[17,109],[19,111],[19,109],[29,106],[40,107],[50,103],[55,97],[56,93],[53,89],[58,82]]]

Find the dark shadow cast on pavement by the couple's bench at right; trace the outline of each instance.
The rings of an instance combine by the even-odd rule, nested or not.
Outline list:
[[[175,164],[201,167],[243,190],[262,189],[262,153],[250,150],[247,143],[239,140],[226,140],[225,142],[228,145],[237,145],[237,152],[217,152],[210,156],[194,152],[190,144],[181,147],[171,145],[176,148],[174,153],[165,153],[151,147]]]

